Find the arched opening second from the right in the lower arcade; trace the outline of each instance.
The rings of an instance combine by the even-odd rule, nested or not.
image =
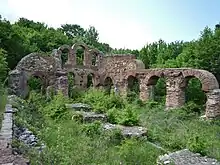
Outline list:
[[[149,99],[165,103],[166,101],[166,80],[163,77],[152,76],[147,82]]]

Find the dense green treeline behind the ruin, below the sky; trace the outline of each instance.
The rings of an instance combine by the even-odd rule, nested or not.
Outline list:
[[[105,54],[131,53],[141,59],[146,68],[192,67],[212,72],[220,82],[220,28],[206,27],[197,40],[190,42],[163,40],[145,45],[141,50],[113,49],[107,43],[99,42],[95,27],[82,28],[77,24],[64,24],[54,29],[44,23],[20,18],[15,23],[0,17],[0,81],[18,61],[31,52],[50,53],[63,44],[84,42]]]

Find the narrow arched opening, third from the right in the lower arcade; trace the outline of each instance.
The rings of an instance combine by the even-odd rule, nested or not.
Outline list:
[[[138,79],[134,76],[129,76],[127,82],[128,82],[127,99],[128,101],[134,101],[135,99],[139,98],[140,83]]]

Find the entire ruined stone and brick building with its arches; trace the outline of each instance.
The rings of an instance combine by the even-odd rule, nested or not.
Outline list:
[[[83,64],[77,62],[77,48],[83,48]],[[68,52],[68,60],[62,65],[61,56]],[[142,61],[134,55],[105,56],[96,49],[89,49],[82,43],[72,47],[63,45],[52,51],[51,56],[31,53],[20,60],[16,68],[9,73],[10,94],[25,97],[28,94],[27,82],[30,77],[42,80],[45,91],[62,91],[68,96],[68,73],[72,73],[74,86],[85,89],[88,76],[92,77],[93,87],[100,88],[108,85],[117,86],[119,94],[126,96],[129,83],[139,82],[140,99],[151,99],[153,87],[159,78],[166,80],[166,109],[175,109],[185,103],[185,89],[191,78],[198,78],[202,90],[207,97],[206,118],[220,116],[220,89],[216,77],[206,71],[192,68],[145,69]]]

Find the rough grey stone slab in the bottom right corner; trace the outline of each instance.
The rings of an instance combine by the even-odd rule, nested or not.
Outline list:
[[[190,152],[188,149],[159,156],[158,165],[220,165],[217,160],[202,157],[200,154]]]

